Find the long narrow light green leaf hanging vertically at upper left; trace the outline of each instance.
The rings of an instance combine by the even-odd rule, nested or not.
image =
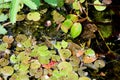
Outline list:
[[[20,0],[12,0],[11,7],[10,7],[10,22],[12,24],[16,23],[16,15],[18,12]]]

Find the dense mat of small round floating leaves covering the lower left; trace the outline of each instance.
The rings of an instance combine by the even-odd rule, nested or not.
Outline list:
[[[8,42],[8,39],[10,42]],[[90,58],[96,57],[94,50],[89,48],[82,52],[81,48],[79,48],[78,53],[76,52],[78,50],[70,45],[71,43],[64,40],[57,41],[55,44],[51,43],[54,48],[50,50],[45,43],[36,44],[34,38],[23,34],[19,34],[15,39],[4,36],[3,41],[9,44],[13,43],[13,41],[16,43],[14,52],[8,57],[9,60],[5,58],[0,59],[0,74],[3,75],[2,78],[4,79],[7,79],[9,76],[10,80],[29,80],[34,76],[36,79],[42,80],[90,80],[85,75],[84,69],[86,68],[84,67],[90,67],[90,64],[97,69],[105,66],[102,60],[90,61]],[[3,44],[0,46],[2,51],[7,49]],[[77,46],[79,47],[79,45]],[[70,47],[75,49],[75,53],[71,51]],[[82,54],[78,55],[80,52]],[[85,56],[89,59],[86,59]],[[86,66],[79,66],[81,62]]]

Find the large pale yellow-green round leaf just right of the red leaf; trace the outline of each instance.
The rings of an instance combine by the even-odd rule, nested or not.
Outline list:
[[[58,69],[62,74],[68,75],[70,72],[72,72],[73,68],[72,65],[68,62],[61,62],[58,64]]]

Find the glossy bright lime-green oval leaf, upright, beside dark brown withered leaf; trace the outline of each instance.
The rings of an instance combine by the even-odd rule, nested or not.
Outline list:
[[[76,38],[82,32],[82,25],[80,23],[74,23],[71,27],[70,34],[72,38]]]

